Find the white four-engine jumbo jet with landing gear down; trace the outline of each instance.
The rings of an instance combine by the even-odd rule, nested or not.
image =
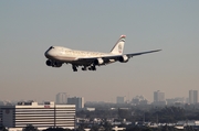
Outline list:
[[[155,50],[123,54],[125,39],[126,35],[122,35],[109,53],[76,51],[63,46],[51,46],[44,53],[48,58],[45,64],[51,67],[61,67],[64,63],[72,64],[73,72],[77,72],[78,66],[82,67],[82,70],[96,70],[96,66],[107,65],[115,62],[127,63],[129,58],[134,56],[161,51]]]

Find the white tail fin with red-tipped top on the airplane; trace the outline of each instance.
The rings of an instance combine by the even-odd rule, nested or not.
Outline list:
[[[125,37],[126,35],[121,35],[119,40],[117,41],[117,43],[114,45],[114,47],[111,51],[112,54],[119,54],[119,55],[123,54]]]

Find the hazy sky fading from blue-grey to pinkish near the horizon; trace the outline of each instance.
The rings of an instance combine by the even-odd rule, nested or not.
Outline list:
[[[198,0],[1,0],[0,100],[54,100],[57,92],[85,101],[115,101],[155,90],[166,98],[199,89]],[[126,64],[72,72],[45,65],[51,45],[109,52],[125,34],[124,53],[161,48]]]

